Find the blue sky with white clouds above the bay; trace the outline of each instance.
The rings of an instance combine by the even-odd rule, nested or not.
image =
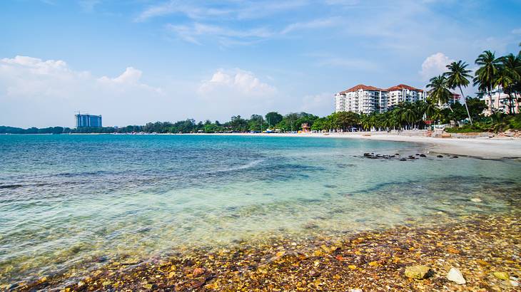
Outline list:
[[[3,0],[0,125],[328,115],[360,83],[425,88],[450,61],[517,53],[520,15],[521,0]]]

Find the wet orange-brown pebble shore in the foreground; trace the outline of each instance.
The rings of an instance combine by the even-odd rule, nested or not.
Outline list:
[[[521,277],[519,212],[411,219],[391,229],[229,249],[196,249],[139,263],[111,262],[79,281],[41,278],[14,291],[513,291]],[[425,279],[408,267],[430,268]],[[447,280],[458,268],[467,283]],[[502,279],[497,273],[506,273]],[[517,285],[517,286],[516,286]],[[357,291],[357,290],[354,290]]]

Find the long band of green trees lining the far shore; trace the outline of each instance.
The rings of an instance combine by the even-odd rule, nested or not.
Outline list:
[[[477,98],[467,100],[472,119],[485,118],[482,111],[485,103]],[[277,130],[278,132],[295,132],[302,130],[302,125],[307,123],[313,131],[351,131],[351,130],[400,130],[400,129],[425,129],[433,122],[448,123],[450,120],[464,120],[467,118],[465,106],[459,103],[452,105],[451,109],[440,109],[433,100],[417,101],[415,103],[400,103],[386,113],[373,113],[370,115],[353,112],[332,113],[325,117],[318,117],[311,113],[288,113],[280,115],[270,112],[266,115],[251,115],[243,118],[234,115],[227,122],[196,122],[193,119],[177,122],[148,122],[146,125],[128,125],[126,127],[19,127],[0,126],[0,133],[9,134],[68,134],[68,133],[224,133],[224,132],[263,132]]]

